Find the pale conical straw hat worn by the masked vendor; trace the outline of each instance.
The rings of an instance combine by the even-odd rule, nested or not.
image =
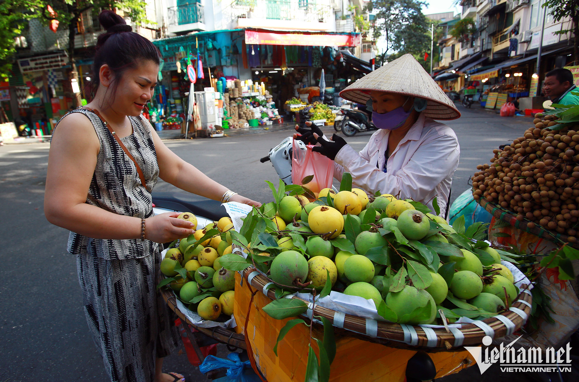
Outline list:
[[[340,92],[343,99],[366,104],[370,99],[368,92],[400,93],[428,100],[424,115],[433,119],[456,119],[460,112],[446,96],[440,86],[416,61],[412,54],[387,63],[370,74],[358,79]]]

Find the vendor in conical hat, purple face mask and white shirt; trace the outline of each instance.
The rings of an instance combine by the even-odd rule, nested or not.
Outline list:
[[[418,61],[405,54],[358,79],[340,97],[372,108],[379,130],[366,147],[356,152],[336,134],[324,139],[316,126],[296,126],[300,139],[320,144],[313,150],[335,161],[336,179],[349,172],[367,192],[411,198],[433,211],[437,197],[445,216],[460,149],[455,132],[434,119],[456,119],[460,112]]]

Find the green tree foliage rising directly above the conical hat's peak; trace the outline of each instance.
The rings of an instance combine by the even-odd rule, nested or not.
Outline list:
[[[424,63],[430,54],[430,24],[422,13],[426,2],[420,0],[372,0],[369,10],[376,13],[376,38],[386,40],[384,54],[389,60],[411,53]]]

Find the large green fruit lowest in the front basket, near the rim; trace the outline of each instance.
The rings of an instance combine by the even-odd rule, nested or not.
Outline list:
[[[398,316],[397,323],[428,324],[436,318],[436,303],[430,293],[405,285],[400,292],[389,292],[386,305]]]

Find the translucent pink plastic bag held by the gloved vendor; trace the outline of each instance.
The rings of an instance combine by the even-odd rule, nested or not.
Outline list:
[[[334,179],[334,161],[324,157],[319,152],[313,152],[313,145],[306,145],[306,150],[302,150],[293,143],[294,150],[292,154],[291,181],[294,184],[305,185],[309,190],[320,192],[323,188],[332,187]],[[313,179],[306,184],[302,180],[313,175]]]

